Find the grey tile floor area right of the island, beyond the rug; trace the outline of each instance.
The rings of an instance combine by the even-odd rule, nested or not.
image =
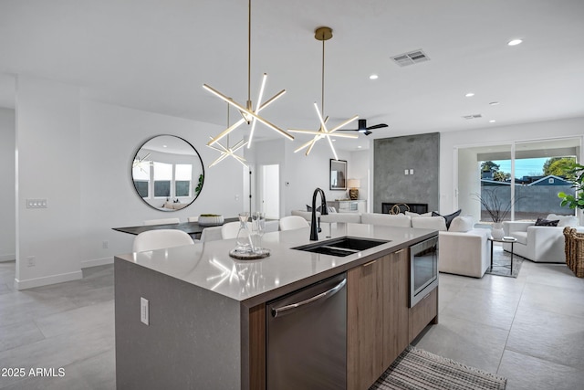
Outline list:
[[[507,378],[506,390],[584,389],[584,279],[524,260],[519,276],[440,274],[439,323],[416,346]]]

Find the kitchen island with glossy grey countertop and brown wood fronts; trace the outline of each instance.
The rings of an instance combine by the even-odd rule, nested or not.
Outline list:
[[[347,257],[292,249],[310,242],[309,229],[304,228],[267,233],[262,244],[271,256],[258,260],[230,258],[235,239],[117,256],[118,387],[265,389],[266,302],[343,272],[348,275],[348,388],[369,383],[370,377],[386,368],[387,362],[391,364],[395,353],[425,325],[437,321],[437,289],[429,300],[412,309],[407,301],[408,248],[437,232],[364,224],[322,225],[320,240],[326,239],[326,234],[390,242]],[[399,267],[391,268],[392,264]],[[388,296],[393,298],[389,303],[381,300],[388,289],[396,289],[395,294],[390,291]],[[371,303],[371,297],[379,301]],[[362,301],[370,306],[391,304],[391,311],[396,312],[393,315],[375,306],[365,310]],[[144,305],[148,306],[145,316]],[[363,313],[379,319],[364,318]],[[371,326],[372,332],[367,329]],[[383,337],[395,351],[388,354],[380,350],[371,352],[375,356],[365,356],[370,352],[362,350],[366,343],[360,334],[369,337],[371,345],[381,344]],[[366,364],[365,357],[374,364]],[[376,369],[361,373],[370,371],[370,365]]]

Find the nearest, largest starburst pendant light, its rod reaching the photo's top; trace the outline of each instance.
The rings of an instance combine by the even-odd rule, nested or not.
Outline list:
[[[223,93],[219,92],[218,90],[214,90],[214,88],[210,87],[207,84],[203,84],[203,88],[205,90],[208,90],[209,92],[213,93],[216,97],[218,97],[221,100],[226,101],[228,104],[234,106],[237,110],[239,110],[239,112],[241,112],[242,114],[242,119],[240,119],[239,121],[236,121],[233,125],[228,126],[227,129],[225,129],[223,132],[221,132],[219,135],[217,135],[216,137],[212,137],[211,141],[209,143],[207,143],[207,145],[211,146],[213,145],[215,142],[218,142],[219,140],[221,140],[225,135],[229,134],[230,132],[233,132],[237,127],[239,127],[240,125],[242,125],[244,122],[247,122],[247,124],[251,124],[251,130],[249,132],[249,140],[247,141],[247,148],[249,148],[252,144],[252,140],[254,138],[254,132],[255,132],[255,124],[259,121],[261,123],[264,123],[267,127],[269,127],[270,129],[274,130],[275,132],[279,132],[281,135],[287,137],[287,139],[289,140],[294,140],[294,137],[290,134],[288,134],[287,132],[283,131],[282,129],[280,129],[279,127],[277,127],[274,123],[270,122],[270,121],[266,121],[266,119],[264,119],[263,117],[259,116],[259,112],[264,110],[267,106],[269,106],[270,104],[272,104],[274,101],[276,101],[276,99],[278,99],[279,97],[281,97],[284,93],[286,93],[286,90],[280,90],[278,93],[276,93],[276,95],[274,95],[273,97],[271,97],[270,99],[266,100],[264,103],[262,103],[262,98],[264,96],[264,88],[266,87],[266,80],[267,80],[267,75],[266,73],[264,73],[264,77],[262,78],[262,84],[260,86],[259,89],[259,96],[257,98],[257,102],[255,103],[255,108],[253,107],[252,104],[252,100],[251,100],[251,92],[250,92],[250,85],[251,85],[251,58],[252,58],[252,1],[249,0],[248,3],[248,20],[247,20],[247,102],[245,104],[245,107],[242,104],[237,103],[235,100],[226,97]]]

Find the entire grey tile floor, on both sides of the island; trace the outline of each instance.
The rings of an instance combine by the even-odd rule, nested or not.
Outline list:
[[[2,389],[114,389],[113,266],[16,291],[0,262],[0,368],[64,368],[63,377],[0,376]],[[506,376],[507,390],[584,388],[584,279],[524,261],[517,279],[440,275],[440,323],[416,345]]]

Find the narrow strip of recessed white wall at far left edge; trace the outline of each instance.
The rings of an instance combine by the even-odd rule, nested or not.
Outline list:
[[[0,261],[16,258],[15,111],[0,108]]]

